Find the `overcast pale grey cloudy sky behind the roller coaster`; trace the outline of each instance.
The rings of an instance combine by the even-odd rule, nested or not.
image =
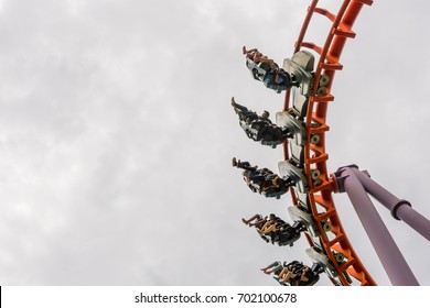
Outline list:
[[[232,168],[236,156],[277,170],[283,154],[248,140],[229,106],[282,108],[241,46],[291,57],[308,2],[1,0],[0,285],[276,285],[260,267],[311,264],[304,240],[272,246],[241,223],[289,220],[291,201],[252,194]],[[429,9],[363,9],[326,138],[330,172],[355,163],[426,217]],[[308,40],[323,43],[329,25],[315,16]],[[347,198],[335,200],[362,261],[389,285]],[[428,241],[380,215],[430,285]]]

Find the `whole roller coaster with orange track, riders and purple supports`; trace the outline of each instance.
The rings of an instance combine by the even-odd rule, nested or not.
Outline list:
[[[350,242],[333,200],[333,194],[346,193],[391,284],[419,285],[369,195],[395,219],[429,241],[430,221],[356,165],[333,173],[326,166],[325,139],[330,130],[326,113],[334,100],[331,89],[335,73],[343,69],[341,54],[346,42],[356,35],[352,29],[357,16],[373,1],[343,0],[336,13],[323,9],[319,2],[312,0],[309,4],[292,57],[284,59],[282,67],[256,48],[243,50],[252,78],[278,94],[286,92],[283,109],[277,112],[273,123],[268,113],[258,116],[234,99],[232,106],[247,136],[266,146],[282,146],[283,160],[278,164],[279,174],[237,158],[233,166],[244,169],[244,179],[254,193],[277,199],[289,193],[292,206],[288,212],[293,221],[290,224],[271,213],[256,215],[244,219],[244,223],[255,227],[266,242],[279,246],[293,245],[301,234],[307,239],[311,266],[298,261],[278,261],[262,268],[265,274],[273,274],[281,285],[314,285],[325,273],[336,286],[374,286],[377,284]],[[322,46],[305,41],[315,14],[331,24]]]

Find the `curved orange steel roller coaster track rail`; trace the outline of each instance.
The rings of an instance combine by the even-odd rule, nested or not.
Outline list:
[[[311,246],[318,246],[322,251],[337,274],[336,278],[331,277],[335,285],[352,285],[354,279],[361,285],[376,285],[370,274],[359,261],[350,240],[346,237],[341,219],[337,215],[332,193],[336,191],[333,176],[327,173],[326,161],[329,155],[325,150],[325,133],[330,130],[326,124],[326,113],[329,105],[334,100],[331,95],[332,82],[336,70],[341,70],[343,65],[340,57],[344,45],[348,38],[354,38],[355,33],[352,26],[364,6],[372,6],[372,0],[344,0],[336,14],[320,8],[319,0],[312,0],[308,8],[299,37],[295,42],[294,53],[301,50],[311,50],[319,55],[318,66],[314,72],[313,91],[309,98],[304,124],[307,130],[307,143],[304,145],[304,174],[309,183],[309,205],[320,231],[320,240],[315,242],[308,235]],[[304,41],[305,33],[314,14],[323,15],[331,22],[331,28],[323,46],[318,46],[312,42]],[[330,81],[326,85],[326,95],[318,96],[320,76],[326,75]],[[286,94],[283,111],[288,111],[290,91]],[[319,142],[311,143],[311,138],[318,135]],[[283,144],[284,160],[290,158],[288,142]],[[312,176],[312,172],[319,170],[319,180]],[[298,205],[297,191],[291,187],[291,197],[294,205]],[[325,228],[326,222],[331,228]],[[341,257],[340,257],[341,256]]]

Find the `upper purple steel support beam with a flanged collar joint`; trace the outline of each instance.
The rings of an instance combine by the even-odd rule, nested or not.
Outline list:
[[[365,173],[356,168],[352,170],[366,191],[386,207],[395,219],[405,221],[410,228],[430,241],[430,220],[417,212],[407,200],[397,198]]]

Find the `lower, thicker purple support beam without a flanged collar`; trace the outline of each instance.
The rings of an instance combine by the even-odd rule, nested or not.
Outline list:
[[[419,283],[398,249],[369,196],[353,169],[340,168],[334,175],[340,193],[346,191],[362,224],[394,286],[418,286]]]

